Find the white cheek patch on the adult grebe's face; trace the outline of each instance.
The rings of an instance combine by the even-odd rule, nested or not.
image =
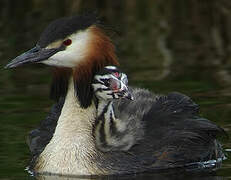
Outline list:
[[[76,67],[88,54],[89,33],[79,32],[70,36],[72,44],[65,50],[59,51],[42,63],[53,66]]]

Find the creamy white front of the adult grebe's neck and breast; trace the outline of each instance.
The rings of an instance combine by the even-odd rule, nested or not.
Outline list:
[[[58,174],[102,174],[94,163],[96,148],[92,126],[95,117],[94,103],[86,109],[80,107],[71,78],[55,133],[40,154],[35,170]]]

